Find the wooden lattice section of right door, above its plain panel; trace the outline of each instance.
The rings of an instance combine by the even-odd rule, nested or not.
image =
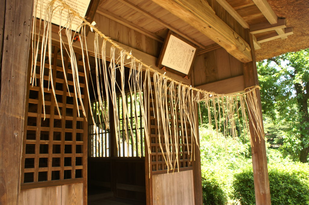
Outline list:
[[[153,94],[153,98],[150,97],[150,116],[149,116],[149,129],[150,129],[150,148],[151,148],[151,159],[150,159],[150,167],[152,168],[153,174],[161,174],[167,172],[167,165],[164,161],[163,154],[165,157],[167,157],[166,152],[166,146],[165,146],[165,139],[163,137],[163,125],[158,125],[156,111],[155,111],[155,93],[154,93],[154,87],[153,82],[151,82],[151,92]],[[172,119],[172,111],[171,111],[171,102],[169,99],[169,95],[167,95],[167,109],[165,111],[168,113],[169,119],[168,122],[171,126],[171,130],[174,130],[174,127],[177,127],[178,131],[178,143],[175,143],[178,145],[178,158],[179,158],[179,170],[189,170],[192,169],[192,163],[191,163],[191,147],[192,147],[192,138],[191,138],[191,128],[188,122],[181,121],[180,119],[180,112],[178,106],[176,106],[176,123],[174,123]],[[175,106],[175,102],[174,102]],[[159,116],[160,117],[160,116]],[[183,125],[183,128],[181,128],[181,123]],[[166,126],[166,125],[164,125]],[[159,146],[159,133],[161,138],[161,145],[163,147],[164,153],[162,153],[161,148]],[[175,134],[173,132],[169,132],[169,143],[173,141],[175,142]],[[175,146],[172,148],[169,147],[169,151],[172,153],[172,159],[173,162],[175,162],[176,158],[176,152],[175,152]],[[176,169],[177,171],[177,164]]]

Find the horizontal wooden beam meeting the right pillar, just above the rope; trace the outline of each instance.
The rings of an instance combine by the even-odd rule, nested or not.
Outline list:
[[[234,94],[245,90],[243,75],[198,85],[196,88],[218,94]]]

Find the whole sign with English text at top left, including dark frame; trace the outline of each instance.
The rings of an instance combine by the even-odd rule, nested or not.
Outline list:
[[[88,16],[90,17],[91,21],[94,17],[96,7],[98,6],[99,1],[98,0],[64,0],[66,4],[68,4],[72,9],[77,11],[82,17]],[[42,0],[42,1],[37,1],[37,10],[36,10],[36,17],[44,19],[45,18],[45,8],[46,5],[50,2],[50,0]],[[61,5],[60,2],[55,2],[54,6],[59,6]],[[93,12],[94,11],[94,12]],[[67,23],[67,19],[65,18],[67,16],[68,12],[67,10],[62,11],[62,18],[59,13],[59,11],[55,12],[53,14],[52,18],[52,23],[56,25],[60,25],[63,27]],[[73,19],[73,24],[72,24],[72,30],[77,31],[78,25],[83,23],[83,20],[79,18],[74,18]],[[79,31],[77,31],[79,32]]]

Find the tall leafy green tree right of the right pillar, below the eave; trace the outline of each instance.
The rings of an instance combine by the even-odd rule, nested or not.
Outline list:
[[[290,124],[283,146],[301,162],[308,162],[309,154],[308,52],[290,52],[257,64],[263,113],[278,124]]]

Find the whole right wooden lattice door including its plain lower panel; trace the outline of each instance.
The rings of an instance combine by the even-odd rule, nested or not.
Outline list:
[[[151,83],[152,96],[149,102],[149,135],[151,156],[146,158],[146,164],[150,164],[150,173],[146,176],[147,184],[147,204],[160,205],[186,205],[195,204],[194,200],[194,167],[192,157],[193,138],[191,127],[188,122],[181,120],[179,107],[171,103],[169,95],[167,95],[167,106],[164,112],[168,113],[166,117],[167,123],[170,124],[171,130],[168,132],[169,146],[166,146],[164,139],[162,122],[158,125],[154,92],[154,83]],[[172,107],[174,106],[174,107]],[[174,109],[174,111],[172,111]],[[172,115],[174,114],[174,119]],[[175,120],[176,119],[176,120]],[[182,126],[181,126],[182,125]],[[175,136],[176,135],[176,136]],[[176,141],[176,140],[177,141]],[[163,148],[163,152],[160,147]],[[171,142],[173,147],[170,146]],[[178,148],[178,164],[176,159],[176,146]],[[168,148],[167,148],[168,147]],[[175,169],[169,170],[164,156],[167,158],[167,149],[169,149],[172,162],[175,163]],[[147,153],[145,151],[145,153]],[[163,156],[164,155],[164,156]],[[150,159],[150,162],[147,162]],[[168,172],[168,174],[167,174]]]

